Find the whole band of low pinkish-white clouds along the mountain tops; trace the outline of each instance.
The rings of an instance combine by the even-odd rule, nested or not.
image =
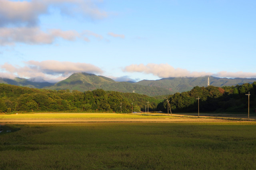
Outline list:
[[[17,66],[8,63],[0,65],[0,77],[2,78],[30,78],[34,82],[58,82],[68,78],[75,72],[87,72],[97,75],[104,74],[104,71],[98,66],[88,63],[73,63],[69,61],[26,61],[24,66]],[[256,78],[256,73],[253,72],[227,72],[220,71],[217,73],[211,72],[190,72],[183,68],[174,68],[169,64],[131,64],[123,69],[124,72],[140,72],[144,74],[153,74],[159,78],[169,77],[200,77],[200,76],[215,76],[226,78]],[[137,82],[130,76],[113,77],[108,76],[115,81]]]

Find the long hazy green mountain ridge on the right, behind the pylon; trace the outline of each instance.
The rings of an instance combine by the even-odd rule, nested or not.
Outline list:
[[[244,83],[253,83],[256,78],[218,78],[210,76],[210,85],[222,86],[236,86]],[[207,86],[208,76],[204,77],[178,77],[178,78],[162,78],[160,80],[142,80],[134,84],[143,86],[156,86],[171,90],[173,92],[185,92],[191,90],[194,86]]]

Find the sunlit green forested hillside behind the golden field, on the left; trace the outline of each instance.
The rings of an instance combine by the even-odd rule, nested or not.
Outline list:
[[[144,109],[149,101],[149,111],[155,111],[162,101],[136,93],[121,93],[96,89],[46,90],[0,84],[0,112],[13,111],[63,111],[63,112],[122,112],[131,113]]]

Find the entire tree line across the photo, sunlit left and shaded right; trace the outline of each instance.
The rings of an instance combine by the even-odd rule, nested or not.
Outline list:
[[[0,84],[0,113],[61,111],[121,112],[164,111],[169,100],[172,112],[246,112],[250,92],[250,111],[256,108],[256,82],[236,86],[195,86],[188,92],[150,97],[136,93],[78,90],[46,90]],[[149,102],[149,103],[147,103]],[[147,108],[147,110],[145,110]]]

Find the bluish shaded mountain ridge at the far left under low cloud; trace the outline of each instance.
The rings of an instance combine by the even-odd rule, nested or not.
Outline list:
[[[12,84],[16,86],[26,86],[30,88],[44,88],[46,86],[52,86],[54,83],[49,82],[34,82],[34,79],[26,79],[26,78],[0,78],[0,83],[4,84]]]

